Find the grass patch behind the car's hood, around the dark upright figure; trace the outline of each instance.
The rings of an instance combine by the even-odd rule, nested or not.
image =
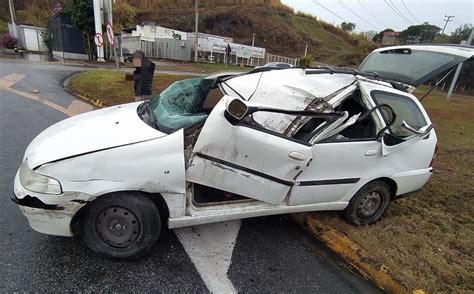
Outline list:
[[[155,75],[153,95],[158,95],[175,81],[193,78],[184,75]],[[107,106],[134,101],[133,81],[125,80],[125,73],[115,70],[92,70],[74,76],[68,89],[89,98],[99,99]]]

